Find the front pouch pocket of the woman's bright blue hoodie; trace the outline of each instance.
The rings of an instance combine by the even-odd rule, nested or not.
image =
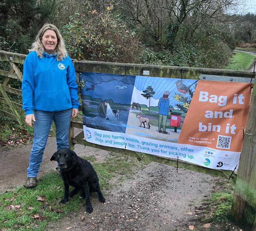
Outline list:
[[[35,109],[62,111],[72,107],[69,91],[41,91],[35,99]]]

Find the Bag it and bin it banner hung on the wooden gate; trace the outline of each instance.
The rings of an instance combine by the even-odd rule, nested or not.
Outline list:
[[[81,73],[88,142],[212,169],[239,163],[249,83]]]

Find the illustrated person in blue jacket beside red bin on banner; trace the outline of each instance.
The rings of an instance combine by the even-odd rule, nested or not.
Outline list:
[[[159,108],[158,132],[163,134],[167,134],[165,126],[166,126],[168,111],[171,109],[171,107],[169,106],[170,104],[170,101],[168,98],[169,95],[170,95],[170,92],[165,91],[163,93],[163,97],[161,97],[158,102],[158,108]]]

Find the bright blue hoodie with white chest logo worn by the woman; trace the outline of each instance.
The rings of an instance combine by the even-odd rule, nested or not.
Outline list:
[[[78,109],[76,73],[69,56],[57,61],[56,54],[39,58],[30,52],[23,64],[22,109],[26,115],[39,111]]]

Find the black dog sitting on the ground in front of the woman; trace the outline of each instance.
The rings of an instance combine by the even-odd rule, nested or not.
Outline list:
[[[68,197],[76,195],[80,190],[85,194],[86,211],[91,213],[93,207],[90,202],[90,192],[97,192],[99,201],[105,203],[105,198],[99,188],[99,179],[91,164],[77,156],[68,148],[59,149],[50,160],[55,160],[59,164],[60,175],[64,181],[65,195],[60,201],[61,204],[68,202]],[[69,194],[69,185],[75,187]]]

